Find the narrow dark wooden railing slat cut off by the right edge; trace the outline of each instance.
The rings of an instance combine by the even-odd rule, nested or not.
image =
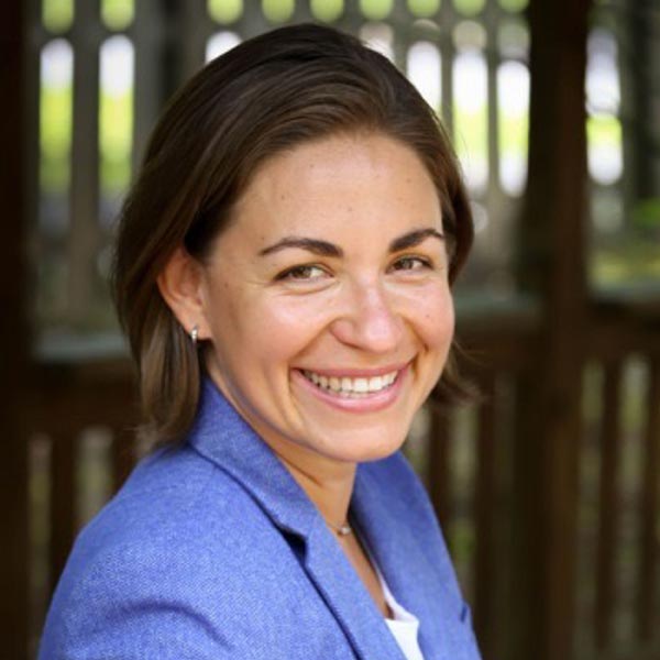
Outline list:
[[[660,358],[649,361],[646,447],[641,483],[641,538],[637,625],[641,639],[656,638],[660,646]]]

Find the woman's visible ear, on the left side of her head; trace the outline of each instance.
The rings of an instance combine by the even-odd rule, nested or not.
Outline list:
[[[188,251],[177,248],[156,278],[163,299],[186,332],[195,326],[199,339],[208,338],[201,296],[202,265]]]

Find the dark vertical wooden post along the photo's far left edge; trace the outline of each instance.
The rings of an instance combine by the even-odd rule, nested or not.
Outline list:
[[[9,2],[0,23],[0,640],[2,656],[28,658],[28,448],[22,425],[29,367],[25,314],[25,3]]]

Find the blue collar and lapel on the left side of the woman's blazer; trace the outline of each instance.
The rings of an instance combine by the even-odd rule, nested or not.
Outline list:
[[[216,386],[204,385],[188,442],[251,493],[280,534],[302,540],[300,563],[361,660],[404,660],[383,616],[316,507]]]

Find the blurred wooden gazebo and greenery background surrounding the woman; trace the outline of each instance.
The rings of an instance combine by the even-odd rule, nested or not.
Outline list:
[[[0,658],[31,658],[76,531],[140,455],[109,298],[148,132],[206,61],[318,21],[442,117],[476,244],[470,405],[407,453],[484,660],[660,658],[660,1],[25,0],[1,30]]]

